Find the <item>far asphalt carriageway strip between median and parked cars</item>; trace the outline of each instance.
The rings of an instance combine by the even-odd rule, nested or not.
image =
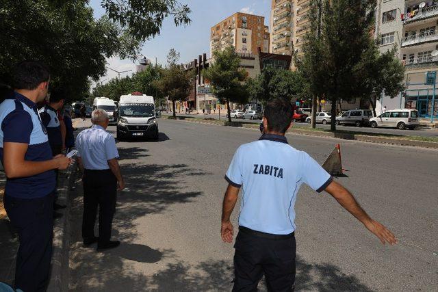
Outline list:
[[[170,115],[170,114],[166,114],[166,115]],[[225,114],[220,115],[220,120],[227,120],[227,118],[224,116]],[[178,114],[178,116],[195,116],[198,118],[203,118],[203,115],[193,115],[193,114]],[[218,114],[210,114],[210,115],[206,115],[206,118],[215,118],[218,119],[219,115]],[[235,119],[232,118],[231,120],[233,121],[237,121],[237,122],[242,122],[242,119]],[[254,123],[259,123],[261,122],[261,120],[249,120],[249,119],[245,119],[243,120],[244,122],[254,122]],[[294,127],[294,125],[296,125],[297,127],[308,127],[310,128],[311,125],[308,124],[307,122],[295,122],[292,124],[292,127]],[[320,129],[330,129],[330,124],[316,124],[317,128]],[[355,126],[337,126],[337,129],[339,130],[345,130],[345,131],[354,131],[354,132],[365,132],[365,133],[380,133],[380,134],[387,134],[387,135],[409,135],[409,136],[422,136],[422,137],[438,137],[438,129],[427,129],[424,127],[420,127],[414,130],[399,130],[399,129],[389,129],[389,128],[377,128],[377,129],[372,129],[371,127],[355,127]]]

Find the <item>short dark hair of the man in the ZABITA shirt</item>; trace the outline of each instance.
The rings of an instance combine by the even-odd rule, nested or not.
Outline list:
[[[294,107],[283,98],[269,101],[263,112],[263,117],[268,120],[268,130],[278,133],[286,133],[292,122],[292,116],[294,116]]]

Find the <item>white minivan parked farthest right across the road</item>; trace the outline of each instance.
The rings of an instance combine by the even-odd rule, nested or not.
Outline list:
[[[400,130],[415,129],[420,124],[418,111],[416,109],[391,109],[380,116],[370,119],[370,126],[391,127]]]

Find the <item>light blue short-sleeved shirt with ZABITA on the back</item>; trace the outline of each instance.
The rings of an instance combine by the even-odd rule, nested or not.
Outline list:
[[[270,134],[240,146],[225,178],[242,187],[239,225],[274,235],[294,232],[296,195],[303,183],[320,192],[332,181],[306,152]]]

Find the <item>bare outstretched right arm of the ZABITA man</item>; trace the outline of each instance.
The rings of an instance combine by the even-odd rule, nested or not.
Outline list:
[[[376,235],[376,237],[378,237],[383,244],[386,242],[391,245],[397,243],[397,239],[394,234],[392,234],[391,231],[387,230],[387,228],[385,228],[385,226],[379,222],[372,220],[372,218],[361,208],[350,191],[348,191],[341,184],[333,181],[329,186],[326,187],[325,191],[331,194],[331,196],[333,196],[333,198],[335,198],[337,202],[344,207],[344,209],[355,216],[357,220],[362,222],[363,225],[365,225],[368,230],[374,233],[374,235]]]

